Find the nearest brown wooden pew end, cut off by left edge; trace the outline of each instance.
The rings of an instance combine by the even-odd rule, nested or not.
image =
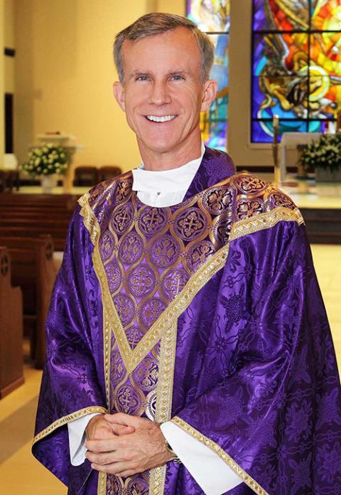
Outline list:
[[[21,289],[11,286],[9,250],[0,246],[0,398],[23,382]]]

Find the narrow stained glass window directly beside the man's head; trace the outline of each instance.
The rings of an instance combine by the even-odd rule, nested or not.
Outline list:
[[[212,37],[215,62],[211,78],[218,82],[217,97],[200,116],[202,139],[207,146],[226,149],[228,104],[229,0],[188,0],[188,18]]]

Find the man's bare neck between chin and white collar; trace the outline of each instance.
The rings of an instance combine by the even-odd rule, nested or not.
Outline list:
[[[201,155],[201,137],[200,133],[191,139],[190,142],[186,142],[185,146],[179,146],[171,151],[156,151],[150,148],[144,147],[142,143],[139,143],[139,150],[141,159],[144,162],[146,170],[163,171],[178,169],[188,163],[188,161],[195,160]]]

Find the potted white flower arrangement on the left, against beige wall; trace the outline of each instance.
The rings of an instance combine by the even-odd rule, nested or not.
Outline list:
[[[65,175],[68,164],[65,149],[49,143],[29,151],[28,161],[21,166],[21,170],[34,177],[40,176],[44,193],[50,193],[56,183],[55,176]]]

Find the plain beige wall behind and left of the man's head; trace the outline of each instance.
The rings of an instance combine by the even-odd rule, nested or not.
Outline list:
[[[112,96],[115,33],[149,1],[16,0],[16,152],[26,159],[38,133],[75,135],[80,164],[139,161],[133,132]]]

